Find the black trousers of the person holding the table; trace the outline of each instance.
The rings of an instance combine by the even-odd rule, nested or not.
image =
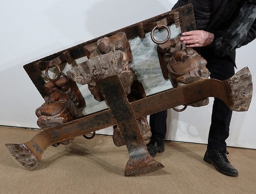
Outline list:
[[[203,56],[203,55],[202,55]],[[227,80],[235,74],[235,66],[229,57],[203,56],[207,60],[210,78]],[[222,100],[214,99],[211,125],[208,137],[208,149],[226,149],[226,139],[229,137],[229,125],[232,111]],[[149,117],[151,139],[165,139],[167,110],[152,114]],[[198,123],[199,124],[199,123]]]

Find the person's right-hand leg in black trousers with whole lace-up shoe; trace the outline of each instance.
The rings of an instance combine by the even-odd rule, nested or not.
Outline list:
[[[210,78],[227,80],[235,74],[234,64],[228,57],[211,58],[207,61],[207,68],[211,73]],[[231,116],[232,111],[229,107],[222,100],[215,98],[204,161],[212,163],[222,174],[237,176],[236,168],[229,163],[226,156],[226,154],[229,154],[226,151],[226,139],[229,137]]]

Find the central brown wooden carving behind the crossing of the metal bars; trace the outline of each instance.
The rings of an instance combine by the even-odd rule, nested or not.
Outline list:
[[[126,38],[125,33],[119,33],[111,37],[104,37],[97,40],[96,43],[88,45],[84,47],[85,53],[87,54],[88,59],[92,59],[97,56],[101,56],[103,54],[108,53],[115,53],[121,52],[123,55],[121,72],[118,74],[119,79],[121,81],[121,85],[124,88],[126,94],[129,94],[129,101],[139,100],[141,98],[145,98],[146,94],[144,88],[141,83],[135,81],[132,87],[131,93],[131,86],[133,83],[133,73],[130,70],[129,62],[132,61],[132,54],[130,51],[129,43]],[[104,64],[101,64],[101,67],[104,68]],[[106,69],[106,74],[108,69]],[[96,84],[96,80],[92,80],[88,82],[88,88],[91,94],[94,95],[94,99],[98,101],[104,100],[99,87]],[[147,117],[139,118],[136,120],[139,128],[141,130],[141,134],[144,140],[147,140],[151,137],[150,127],[148,125]],[[114,133],[113,133],[113,141],[116,146],[124,146],[125,141],[121,136],[120,129],[115,125],[114,126]]]

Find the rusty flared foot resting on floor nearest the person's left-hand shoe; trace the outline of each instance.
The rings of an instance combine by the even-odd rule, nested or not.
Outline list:
[[[125,176],[148,174],[163,167],[164,166],[160,162],[156,161],[150,155],[139,159],[129,159],[125,167]]]

